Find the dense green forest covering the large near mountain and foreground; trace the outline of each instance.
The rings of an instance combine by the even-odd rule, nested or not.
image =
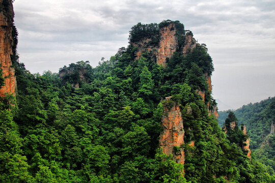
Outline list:
[[[129,40],[157,39],[159,26],[167,23],[139,23]],[[174,23],[178,38],[184,38],[183,24]],[[238,127],[225,134],[209,115],[208,104],[215,101],[205,73],[211,75],[213,65],[205,46],[186,56],[177,49],[166,67],[157,65],[149,51],[135,59],[135,50],[122,47],[95,68],[80,61],[42,75],[31,74],[16,57],[17,94],[7,94],[0,103],[0,180],[275,181],[273,171],[241,148],[248,137]],[[162,102],[169,96],[182,113],[184,164],[159,148]]]

